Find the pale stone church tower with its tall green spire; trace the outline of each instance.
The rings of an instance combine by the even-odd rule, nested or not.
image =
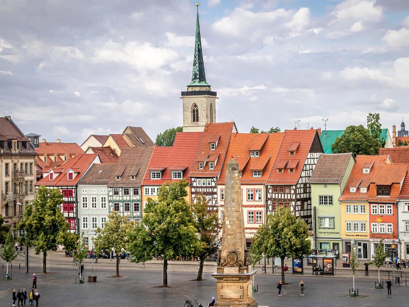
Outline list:
[[[206,82],[205,64],[200,40],[199,4],[196,4],[196,38],[193,57],[192,82],[187,91],[181,92],[183,99],[183,132],[202,132],[206,123],[216,122],[216,96]]]

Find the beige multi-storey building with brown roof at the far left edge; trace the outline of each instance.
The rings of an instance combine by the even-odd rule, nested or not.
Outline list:
[[[37,152],[10,116],[0,117],[0,212],[14,238],[25,206],[34,199]]]

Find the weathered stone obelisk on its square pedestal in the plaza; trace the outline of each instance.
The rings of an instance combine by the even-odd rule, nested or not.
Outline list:
[[[212,274],[217,280],[215,306],[257,307],[252,287],[256,271],[248,270],[239,164],[233,158],[226,164],[223,220],[220,263]]]

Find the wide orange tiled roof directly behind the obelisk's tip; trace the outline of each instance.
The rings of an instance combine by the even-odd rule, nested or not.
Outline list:
[[[260,136],[261,135],[261,136]],[[232,133],[226,162],[220,173],[218,184],[224,184],[226,179],[226,164],[233,157],[239,163],[242,184],[264,184],[271,172],[272,166],[283,140],[284,132],[280,133]],[[250,157],[248,148],[260,140],[264,140],[259,157]],[[260,144],[260,143],[259,143]],[[261,177],[253,177],[253,170],[261,170]]]

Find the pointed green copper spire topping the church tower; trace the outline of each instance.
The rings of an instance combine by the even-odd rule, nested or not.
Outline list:
[[[210,86],[206,82],[205,64],[203,63],[203,54],[201,52],[200,26],[199,26],[199,4],[196,4],[196,39],[195,39],[195,55],[193,57],[192,82],[188,86]]]

